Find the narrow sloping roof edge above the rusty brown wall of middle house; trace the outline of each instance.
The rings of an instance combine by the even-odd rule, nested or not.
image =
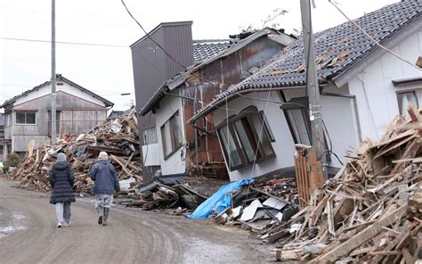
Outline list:
[[[198,65],[193,65],[191,67],[188,67],[187,70],[184,70],[183,72],[179,72],[173,78],[166,80],[166,82],[161,87],[158,87],[158,89],[150,97],[148,102],[143,105],[140,111],[140,114],[145,115],[149,111],[153,110],[156,107],[156,105],[159,103],[159,101],[161,101],[164,98],[164,96],[166,95],[166,92],[171,91],[175,87],[179,87],[180,85],[182,85],[184,81],[186,80],[186,78],[188,78],[192,72],[199,70],[200,68],[206,66],[207,64],[211,62],[215,62],[215,60],[218,60],[220,58],[223,58],[225,56],[228,56],[238,51],[240,48],[244,47],[245,45],[248,45],[249,43],[251,43],[258,37],[263,37],[265,35],[269,35],[272,33],[285,34],[284,30],[282,29],[276,30],[276,29],[264,28],[264,29],[256,30],[255,32],[244,32],[244,33],[240,33],[239,35],[233,36],[234,39],[231,40],[230,45],[228,45],[226,49],[223,49],[221,52],[214,54],[210,58],[207,58],[204,62],[201,62]]]

